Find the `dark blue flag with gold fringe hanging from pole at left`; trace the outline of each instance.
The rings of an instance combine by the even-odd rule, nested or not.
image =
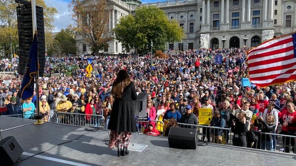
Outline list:
[[[26,61],[24,77],[21,86],[21,100],[27,100],[34,95],[34,74],[38,72],[38,53],[37,53],[37,34],[30,47],[29,55]]]

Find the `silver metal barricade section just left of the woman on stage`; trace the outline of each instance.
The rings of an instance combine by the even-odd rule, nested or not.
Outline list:
[[[72,126],[105,127],[103,115],[79,114],[71,112],[57,112],[57,123]]]

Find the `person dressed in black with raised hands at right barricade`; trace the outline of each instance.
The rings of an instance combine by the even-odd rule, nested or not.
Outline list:
[[[240,112],[237,118],[232,120],[231,132],[233,132],[233,146],[247,147],[246,133],[248,132],[248,121],[246,121],[246,113]]]

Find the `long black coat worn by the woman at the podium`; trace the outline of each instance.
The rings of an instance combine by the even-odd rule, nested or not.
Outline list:
[[[111,110],[108,129],[117,132],[137,132],[134,106],[132,100],[137,99],[137,93],[133,82],[127,86],[123,95],[115,99]]]

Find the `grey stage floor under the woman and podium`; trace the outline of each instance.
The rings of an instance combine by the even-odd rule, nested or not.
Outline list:
[[[138,133],[131,139],[130,149],[134,150],[125,157],[117,157],[117,149],[109,149],[102,141],[108,137],[108,130],[91,132],[83,127],[34,125],[34,122],[0,116],[2,138],[14,136],[24,150],[19,158],[23,161],[13,166],[295,166],[296,163],[294,154],[226,145],[174,149],[165,137]],[[35,154],[38,155],[29,158]]]

